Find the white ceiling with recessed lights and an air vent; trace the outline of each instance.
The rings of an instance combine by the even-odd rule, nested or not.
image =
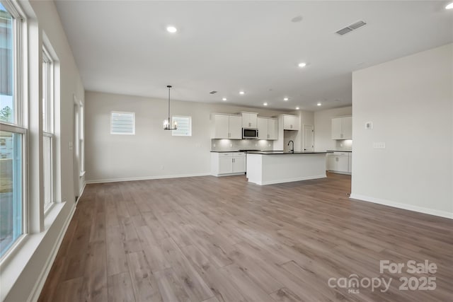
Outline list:
[[[86,90],[152,98],[343,107],[352,71],[453,42],[448,1],[55,2]]]

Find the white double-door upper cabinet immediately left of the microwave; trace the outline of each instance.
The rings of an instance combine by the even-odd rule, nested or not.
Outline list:
[[[214,133],[212,139],[242,139],[240,115],[214,114]]]

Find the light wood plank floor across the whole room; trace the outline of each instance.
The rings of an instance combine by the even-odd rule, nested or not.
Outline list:
[[[452,301],[453,222],[349,192],[348,175],[87,185],[40,301]],[[437,272],[381,274],[379,260]],[[328,286],[351,274],[393,280],[386,292]],[[400,277],[427,276],[434,291],[398,290]]]

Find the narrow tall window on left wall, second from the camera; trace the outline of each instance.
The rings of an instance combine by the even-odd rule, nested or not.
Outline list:
[[[42,50],[42,169],[44,171],[44,210],[54,202],[54,119],[52,59]]]

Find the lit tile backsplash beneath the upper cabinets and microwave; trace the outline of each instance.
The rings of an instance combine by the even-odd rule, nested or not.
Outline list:
[[[238,150],[262,150],[274,149],[274,141],[264,139],[211,139],[211,151],[238,151]]]

